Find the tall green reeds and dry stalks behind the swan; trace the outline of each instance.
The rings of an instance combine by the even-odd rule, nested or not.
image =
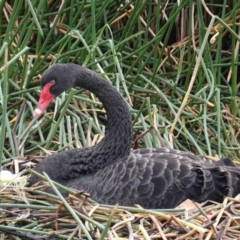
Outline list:
[[[57,62],[112,82],[129,103],[134,138],[150,129],[133,147],[239,159],[240,1],[2,0],[0,12],[5,166],[18,171],[26,159],[104,136],[102,104],[83,89],[32,117],[41,74]]]

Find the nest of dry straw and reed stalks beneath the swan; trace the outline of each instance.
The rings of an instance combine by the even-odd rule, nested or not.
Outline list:
[[[53,183],[50,182],[50,185]],[[176,209],[99,205],[85,192],[64,198],[36,187],[1,188],[0,239],[239,239],[240,196]]]

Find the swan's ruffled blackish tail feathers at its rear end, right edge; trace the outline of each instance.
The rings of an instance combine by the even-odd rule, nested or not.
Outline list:
[[[229,158],[214,162],[212,166],[196,166],[195,172],[194,183],[185,189],[189,199],[222,202],[224,197],[235,197],[240,193],[240,168]]]

